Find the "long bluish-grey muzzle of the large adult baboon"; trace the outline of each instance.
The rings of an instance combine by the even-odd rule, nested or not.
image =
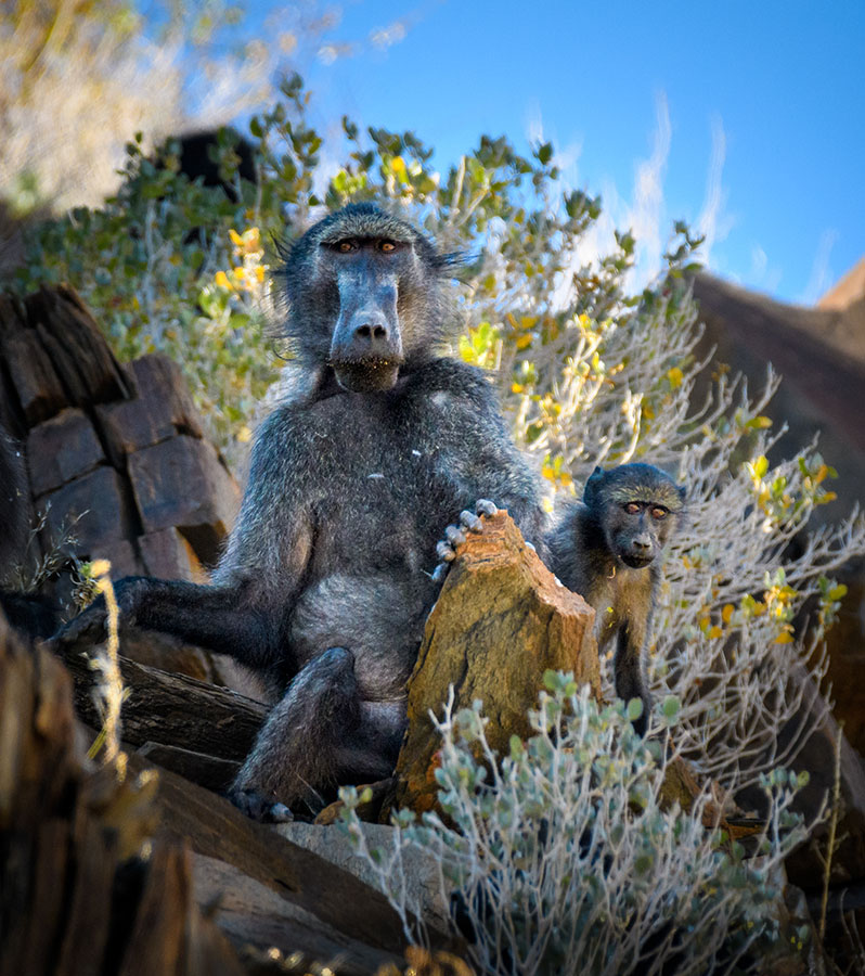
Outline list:
[[[337,382],[354,393],[390,389],[403,362],[396,279],[364,269],[340,274],[338,285],[339,316],[331,341]]]

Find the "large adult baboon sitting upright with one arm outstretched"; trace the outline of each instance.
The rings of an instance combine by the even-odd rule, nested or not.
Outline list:
[[[436,543],[461,510],[493,499],[538,542],[543,525],[492,386],[441,354],[454,258],[370,204],[326,217],[284,257],[305,393],[258,432],[212,585],[117,586],[121,619],[267,682],[277,704],[234,789],[253,813],[314,807],[337,783],[392,770]],[[103,620],[88,609],[62,639],[99,637]]]

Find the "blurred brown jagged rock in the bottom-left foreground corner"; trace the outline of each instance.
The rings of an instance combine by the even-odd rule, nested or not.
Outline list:
[[[68,672],[2,615],[0,695],[0,976],[102,976],[121,958],[129,976],[241,976],[182,845],[142,856],[156,774],[86,762]]]

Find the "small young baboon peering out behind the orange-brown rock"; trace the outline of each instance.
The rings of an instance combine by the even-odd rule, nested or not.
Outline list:
[[[643,658],[661,578],[657,557],[684,502],[685,489],[651,464],[596,467],[582,503],[571,504],[546,539],[550,568],[595,611],[598,653],[617,638],[616,694],[643,702],[634,722],[641,735],[651,709]]]

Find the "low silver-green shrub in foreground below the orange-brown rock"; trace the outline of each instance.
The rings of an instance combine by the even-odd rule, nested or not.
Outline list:
[[[621,703],[598,707],[568,675],[547,672],[545,684],[533,734],[514,737],[501,761],[480,703],[444,708],[436,776],[447,823],[401,811],[389,849],[371,851],[357,791],[343,791],[348,830],[408,937],[424,939],[402,863],[417,847],[437,866],[442,903],[474,929],[468,952],[483,974],[625,976],[675,960],[676,973],[703,976],[765,951],[777,935],[779,865],[806,833],[790,813],[805,778],[763,776],[767,820],[746,858],[705,826],[708,793],[688,812],[661,801],[671,760],[634,733]],[[677,702],[658,711],[674,735]]]

